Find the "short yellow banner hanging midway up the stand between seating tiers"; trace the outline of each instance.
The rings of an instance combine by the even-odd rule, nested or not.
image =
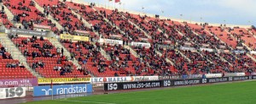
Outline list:
[[[61,39],[64,40],[73,40],[73,41],[90,41],[89,36],[71,36],[61,34]]]

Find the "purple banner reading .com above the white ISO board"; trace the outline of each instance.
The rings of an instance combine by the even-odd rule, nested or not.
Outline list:
[[[38,79],[0,79],[0,88],[4,87],[32,87],[38,85]]]

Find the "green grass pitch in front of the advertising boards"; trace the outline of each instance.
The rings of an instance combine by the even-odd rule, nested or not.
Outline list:
[[[75,97],[26,104],[253,104],[256,81]]]

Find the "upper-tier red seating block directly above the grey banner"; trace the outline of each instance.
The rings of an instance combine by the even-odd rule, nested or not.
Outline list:
[[[59,31],[51,20],[49,13],[41,13],[32,0],[4,1],[3,4],[14,14],[14,21],[24,25],[25,29],[33,29],[34,25],[49,25],[55,33]]]

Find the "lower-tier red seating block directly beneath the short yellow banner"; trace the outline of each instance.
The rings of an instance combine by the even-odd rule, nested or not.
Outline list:
[[[84,41],[61,40],[61,43],[82,65],[84,75],[113,76],[114,72],[108,69],[107,59],[101,55],[99,47],[94,47],[90,42]]]

